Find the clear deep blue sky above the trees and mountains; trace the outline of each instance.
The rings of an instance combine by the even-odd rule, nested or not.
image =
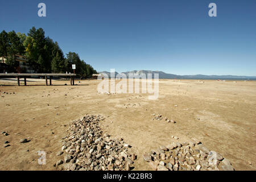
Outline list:
[[[46,17],[38,4],[46,3]],[[217,4],[217,17],[208,5]],[[0,0],[0,31],[42,27],[97,71],[256,76],[255,0]],[[4,8],[3,8],[4,7]]]

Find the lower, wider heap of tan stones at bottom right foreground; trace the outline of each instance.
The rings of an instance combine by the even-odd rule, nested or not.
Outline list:
[[[172,142],[144,154],[143,159],[158,171],[233,171],[228,159],[210,151],[197,139],[191,142]]]

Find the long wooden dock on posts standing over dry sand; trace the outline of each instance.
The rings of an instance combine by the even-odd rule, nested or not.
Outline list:
[[[44,76],[46,78],[46,85],[48,85],[48,77],[49,77],[49,85],[52,85],[52,77],[53,76],[68,76],[70,77],[70,85],[74,85],[74,76],[76,74],[73,73],[0,73],[0,76],[15,76],[18,81],[18,85],[20,86],[19,78],[24,78],[24,85],[27,85],[27,77],[30,76]]]

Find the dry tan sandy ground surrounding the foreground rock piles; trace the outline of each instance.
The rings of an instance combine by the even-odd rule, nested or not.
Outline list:
[[[44,83],[28,79],[28,86],[16,86],[16,80],[0,80],[0,131],[9,133],[0,135],[1,170],[56,170],[66,125],[85,114],[106,116],[102,130],[123,137],[137,152],[135,170],[150,169],[142,155],[170,144],[171,135],[180,142],[200,139],[236,170],[256,169],[256,81],[160,80],[158,100],[142,93],[100,94],[97,80],[74,86],[68,80]],[[176,123],[152,121],[154,113]],[[22,138],[31,141],[19,143]],[[6,140],[10,146],[5,148]],[[42,150],[46,165],[38,164]]]

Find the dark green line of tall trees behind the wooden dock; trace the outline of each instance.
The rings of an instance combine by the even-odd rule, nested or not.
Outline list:
[[[68,52],[65,57],[59,44],[45,36],[43,28],[32,27],[27,35],[3,30],[0,33],[0,57],[5,57],[5,63],[16,68],[16,72],[24,72],[18,70],[15,55],[26,56],[27,64],[39,73],[73,73],[72,64],[76,64],[76,74],[80,77],[97,73],[80,59],[78,53]]]

